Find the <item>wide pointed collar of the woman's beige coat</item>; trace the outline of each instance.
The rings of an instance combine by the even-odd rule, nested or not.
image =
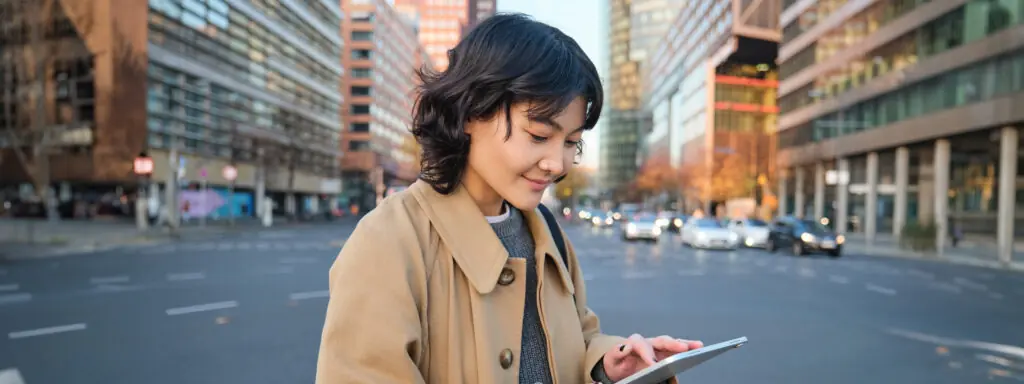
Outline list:
[[[460,185],[451,195],[441,195],[427,182],[417,180],[409,190],[473,288],[480,294],[494,291],[509,254],[466,188]],[[571,274],[540,211],[524,211],[523,218],[534,234],[535,256],[539,261],[543,257],[553,259],[563,286],[574,293]]]

